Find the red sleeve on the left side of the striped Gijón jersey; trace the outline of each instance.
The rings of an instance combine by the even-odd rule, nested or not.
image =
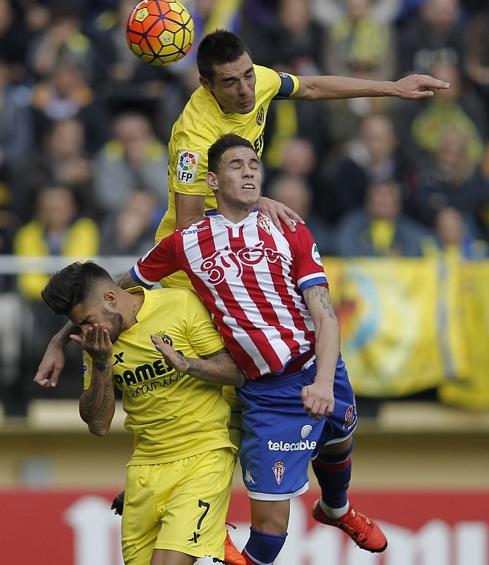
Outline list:
[[[151,288],[160,279],[179,271],[176,246],[176,234],[159,241],[129,271],[132,280],[145,288]]]

